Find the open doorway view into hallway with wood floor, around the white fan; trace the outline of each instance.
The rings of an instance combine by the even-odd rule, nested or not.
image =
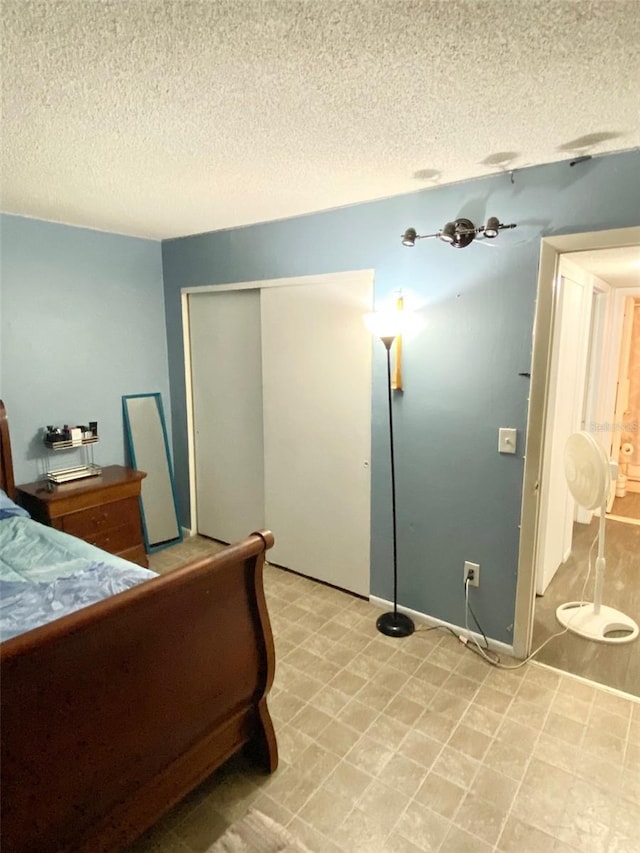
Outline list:
[[[588,236],[573,235],[574,238]],[[640,398],[640,357],[636,361],[635,356],[636,348],[640,351],[637,343],[640,338],[635,336],[640,336],[640,316],[637,325],[634,322],[636,313],[640,315],[640,310],[636,312],[636,304],[640,303],[640,247],[557,252],[555,262],[555,273],[551,270],[555,292],[551,300],[555,301],[555,310],[549,312],[555,322],[553,335],[547,336],[546,417],[540,419],[539,438],[543,440],[540,441],[536,472],[539,478],[534,483],[535,491],[539,491],[536,547],[533,549],[537,559],[533,559],[529,581],[536,594],[531,590],[532,619],[527,653],[561,630],[555,617],[560,604],[580,600],[583,595],[585,601],[593,600],[595,553],[591,546],[598,519],[576,508],[563,482],[562,451],[567,435],[576,430],[590,432],[607,455],[620,462],[621,479],[612,489],[606,521],[607,572],[603,601],[640,621],[640,519],[636,515],[636,496],[640,508],[640,491],[635,491],[640,412],[634,408],[636,394]],[[568,330],[565,329],[563,339],[560,332],[565,322],[568,322]],[[561,373],[564,371],[564,375],[559,377],[558,369]],[[564,383],[564,387],[557,388],[558,382]],[[532,394],[532,398],[534,396]],[[534,402],[532,399],[532,406]],[[533,438],[535,448],[535,434]],[[527,456],[530,455],[529,444]],[[531,461],[527,460],[527,464]],[[549,506],[550,491],[553,492],[550,478],[554,472],[557,494],[551,495]],[[529,475],[532,473],[530,470]],[[630,489],[627,488],[629,483]],[[525,489],[526,486],[525,481]],[[623,489],[625,494],[620,495]],[[527,521],[526,491],[524,497],[523,528]],[[529,510],[531,506],[529,501]],[[622,512],[614,511],[619,508]],[[525,540],[526,533],[524,530]],[[522,556],[521,550],[524,581],[526,563]],[[590,558],[592,570],[585,585]],[[519,587],[520,604],[522,592]],[[567,633],[549,643],[536,655],[536,660],[640,695],[637,642],[611,646]]]

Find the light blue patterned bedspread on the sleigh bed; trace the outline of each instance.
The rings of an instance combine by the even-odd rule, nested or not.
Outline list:
[[[28,518],[0,521],[0,641],[73,613],[155,572]]]

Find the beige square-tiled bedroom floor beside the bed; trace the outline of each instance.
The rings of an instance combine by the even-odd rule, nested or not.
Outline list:
[[[131,853],[205,851],[249,807],[315,853],[640,849],[639,703],[445,631],[383,637],[368,602],[274,567],[265,588],[279,769],[233,759]]]

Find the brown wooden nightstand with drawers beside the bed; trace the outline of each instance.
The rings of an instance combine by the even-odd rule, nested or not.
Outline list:
[[[140,519],[142,471],[108,465],[97,477],[60,485],[16,486],[17,502],[36,521],[148,568]]]

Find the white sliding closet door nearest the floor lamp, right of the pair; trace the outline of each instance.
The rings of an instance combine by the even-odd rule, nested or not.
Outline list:
[[[261,291],[269,560],[369,594],[373,282]]]

